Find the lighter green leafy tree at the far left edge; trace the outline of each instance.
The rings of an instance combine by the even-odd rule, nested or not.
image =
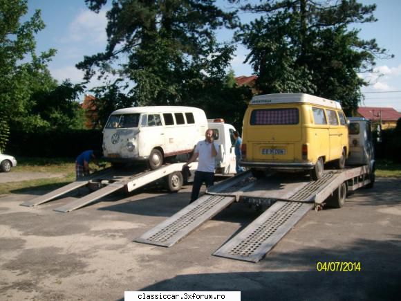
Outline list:
[[[40,11],[20,23],[27,12],[26,0],[0,0],[0,114],[10,128],[24,130],[46,125],[30,114],[32,93],[57,84],[47,69],[55,50],[35,53],[35,34],[44,28]]]

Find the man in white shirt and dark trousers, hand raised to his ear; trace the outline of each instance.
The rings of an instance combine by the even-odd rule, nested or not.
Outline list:
[[[189,203],[198,199],[199,191],[201,190],[203,182],[205,182],[206,187],[213,185],[217,152],[218,145],[213,141],[213,130],[207,129],[205,140],[201,140],[196,144],[194,154],[184,165],[184,167],[188,166],[190,163],[194,162],[196,158],[199,158],[198,169],[196,170],[194,177],[194,185],[192,185],[191,201]]]

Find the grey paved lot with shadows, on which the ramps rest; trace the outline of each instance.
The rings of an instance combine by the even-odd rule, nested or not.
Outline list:
[[[241,291],[241,300],[400,300],[401,182],[377,179],[339,210],[310,211],[257,264],[212,253],[261,212],[235,203],[171,248],[132,240],[184,208],[177,194],[113,194],[67,214],[0,197],[0,300],[122,300],[124,291]],[[1,185],[1,184],[0,184]],[[360,272],[317,272],[359,262]]]

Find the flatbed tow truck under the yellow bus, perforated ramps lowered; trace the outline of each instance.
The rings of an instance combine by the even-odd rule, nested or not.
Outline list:
[[[350,118],[352,119],[352,118]],[[300,221],[308,211],[324,206],[341,208],[348,192],[372,188],[375,181],[375,160],[368,120],[354,118],[360,129],[349,135],[352,164],[344,170],[325,170],[321,179],[312,181],[299,174],[272,172],[257,179],[252,172],[243,172],[212,186],[206,194],[145,232],[136,242],[170,247],[189,235],[208,219],[212,219],[234,202],[268,206],[244,230],[218,248],[213,255],[246,262],[259,262]],[[369,123],[368,123],[369,125]]]

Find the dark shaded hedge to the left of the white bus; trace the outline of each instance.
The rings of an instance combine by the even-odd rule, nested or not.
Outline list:
[[[101,130],[48,130],[27,134],[10,131],[8,154],[25,157],[75,158],[86,149],[102,149]]]

